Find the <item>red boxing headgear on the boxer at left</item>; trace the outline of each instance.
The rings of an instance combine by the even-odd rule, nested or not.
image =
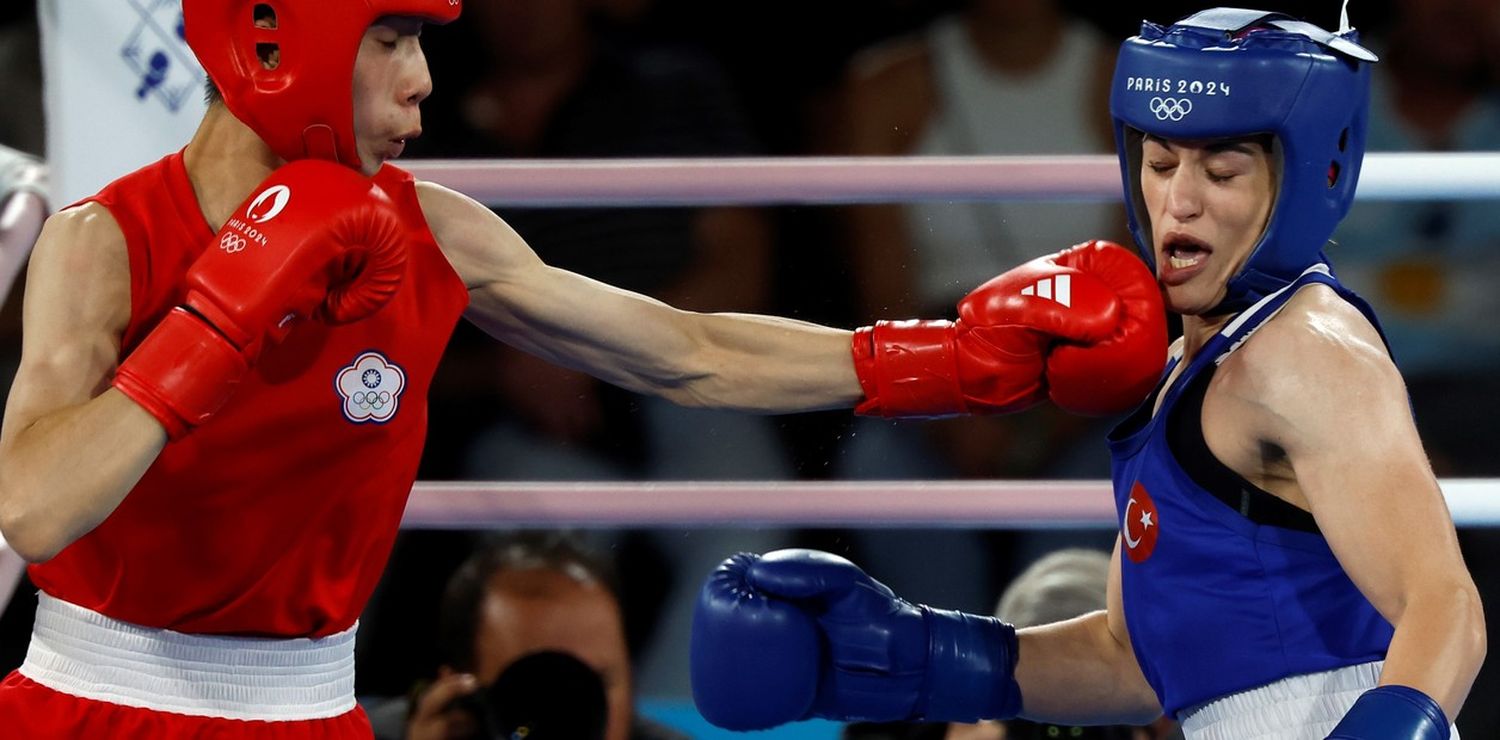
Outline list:
[[[354,57],[378,18],[429,23],[459,17],[464,0],[183,0],[188,45],[237,119],[286,161],[332,159],[358,168]],[[274,29],[255,15],[274,14]],[[280,62],[266,69],[261,51]]]

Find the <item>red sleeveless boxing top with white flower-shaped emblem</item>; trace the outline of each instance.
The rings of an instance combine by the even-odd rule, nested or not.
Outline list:
[[[378,312],[306,321],[224,410],[170,443],[104,524],[30,567],[44,591],[189,633],[321,636],[354,624],[390,555],[428,428],[428,384],[468,293],[411,174],[376,176],[410,224],[406,275]],[[210,243],[182,153],[90,198],[124,233],[124,357],[183,300]]]

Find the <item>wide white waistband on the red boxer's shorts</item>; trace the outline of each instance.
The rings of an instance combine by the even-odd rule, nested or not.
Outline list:
[[[72,696],[126,707],[225,719],[326,719],[354,708],[356,627],[296,639],[184,635],[44,593],[21,674]]]

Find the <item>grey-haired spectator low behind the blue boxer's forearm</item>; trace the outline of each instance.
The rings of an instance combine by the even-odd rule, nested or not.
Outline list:
[[[1052,624],[1104,609],[1110,555],[1098,549],[1070,548],[1035,561],[1000,596],[994,615],[1034,627]],[[844,729],[844,740],[1155,740],[1178,737],[1176,723],[1167,717],[1150,726],[1058,726],[1014,719],[976,725],[932,723],[855,723]]]

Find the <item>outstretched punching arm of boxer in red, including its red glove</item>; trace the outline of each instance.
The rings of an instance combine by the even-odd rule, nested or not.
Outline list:
[[[1046,401],[1050,381],[1064,408],[1116,413],[1150,390],[1166,354],[1155,279],[1119,245],[1088,242],[1017,266],[969,293],[957,321],[879,321],[850,336],[678,311],[542,264],[470,198],[434,185],[418,194],[470,288],[470,320],[549,362],[682,405],[778,413],[862,401],[860,413],[890,417],[1010,413]],[[1058,300],[1048,297],[1054,281]],[[1048,354],[1058,342],[1072,347]]]

